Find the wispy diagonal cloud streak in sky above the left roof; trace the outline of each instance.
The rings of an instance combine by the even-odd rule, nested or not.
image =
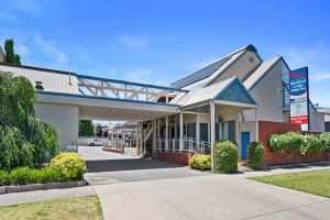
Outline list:
[[[35,42],[41,46],[42,52],[50,56],[53,56],[59,63],[68,62],[67,55],[57,48],[55,42],[45,41],[38,33],[34,34],[33,37]]]

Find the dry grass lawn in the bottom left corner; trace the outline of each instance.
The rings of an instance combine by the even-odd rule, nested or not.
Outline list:
[[[97,196],[69,199],[56,199],[0,207],[1,220],[13,219],[102,219],[102,211]]]

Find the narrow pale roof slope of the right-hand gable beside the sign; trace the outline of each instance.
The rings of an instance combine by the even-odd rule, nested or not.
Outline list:
[[[245,80],[244,86],[251,90],[255,84],[278,62],[282,57],[275,57],[270,61],[263,62]]]

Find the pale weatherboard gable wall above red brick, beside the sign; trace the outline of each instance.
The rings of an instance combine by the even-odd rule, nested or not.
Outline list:
[[[250,91],[258,105],[257,120],[283,122],[280,68],[280,62],[277,62]]]

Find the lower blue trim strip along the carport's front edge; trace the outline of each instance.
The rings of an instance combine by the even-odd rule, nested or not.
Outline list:
[[[72,98],[98,99],[98,100],[121,101],[121,102],[131,102],[131,103],[146,103],[146,105],[156,105],[156,106],[179,107],[178,105],[174,105],[174,103],[128,100],[128,99],[117,99],[117,98],[108,98],[108,97],[92,97],[92,96],[85,96],[85,95],[78,95],[78,94],[63,94],[63,92],[54,92],[54,91],[37,91],[37,94],[72,97]]]

